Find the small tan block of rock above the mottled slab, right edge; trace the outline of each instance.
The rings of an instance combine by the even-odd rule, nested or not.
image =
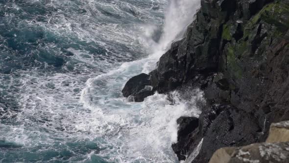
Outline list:
[[[266,142],[289,142],[289,121],[272,123]]]

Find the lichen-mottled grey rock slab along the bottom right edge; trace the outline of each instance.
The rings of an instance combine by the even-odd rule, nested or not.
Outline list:
[[[289,163],[289,142],[221,148],[209,163]]]

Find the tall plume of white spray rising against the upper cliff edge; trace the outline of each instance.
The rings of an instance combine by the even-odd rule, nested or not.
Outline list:
[[[193,22],[194,14],[200,7],[200,0],[171,0],[165,14],[162,35],[155,44],[150,44],[151,54],[146,60],[143,73],[149,73],[156,68],[156,61],[166,53],[174,41],[184,37],[187,27]],[[156,29],[153,28],[155,31]]]

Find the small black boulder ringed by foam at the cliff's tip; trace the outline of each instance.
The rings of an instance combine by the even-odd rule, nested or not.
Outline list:
[[[149,78],[150,76],[144,73],[132,77],[122,89],[123,96],[133,96],[135,102],[143,102],[145,97],[153,94]]]

